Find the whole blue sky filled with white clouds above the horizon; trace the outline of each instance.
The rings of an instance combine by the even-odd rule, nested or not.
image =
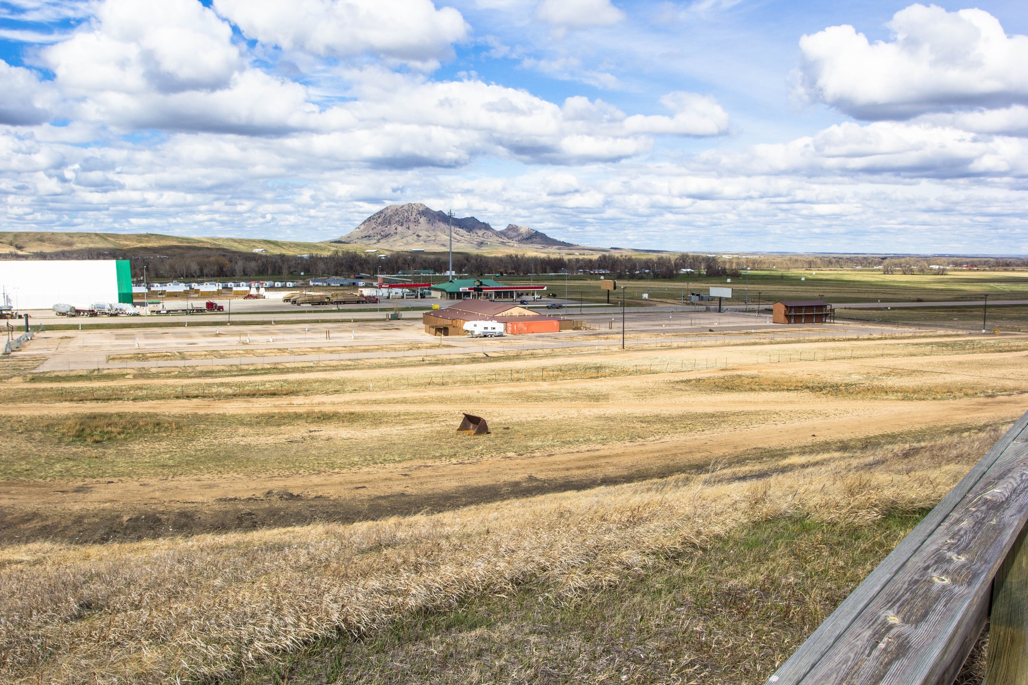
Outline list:
[[[1023,2],[0,0],[0,230],[1028,254]]]

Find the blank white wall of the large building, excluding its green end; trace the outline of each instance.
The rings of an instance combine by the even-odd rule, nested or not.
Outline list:
[[[109,260],[0,260],[0,293],[20,309],[56,304],[86,308],[118,301],[117,262]],[[2,298],[0,298],[2,299]]]

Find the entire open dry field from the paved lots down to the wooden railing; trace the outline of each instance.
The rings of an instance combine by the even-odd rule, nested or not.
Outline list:
[[[4,359],[0,680],[761,683],[1028,410],[1017,334],[387,356],[405,330]]]

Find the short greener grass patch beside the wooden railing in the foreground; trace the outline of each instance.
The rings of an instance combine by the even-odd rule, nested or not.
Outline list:
[[[639,560],[616,592],[530,582],[326,640],[244,683],[764,682],[926,513],[782,517]]]

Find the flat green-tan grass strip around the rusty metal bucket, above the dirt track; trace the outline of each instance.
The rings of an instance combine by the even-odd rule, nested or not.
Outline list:
[[[497,411],[489,416],[492,434],[472,440],[454,430],[460,412],[430,407],[388,413],[9,415],[4,417],[8,432],[0,453],[0,480],[345,471],[406,461],[446,463],[628,444],[688,435],[708,421],[742,425],[774,418],[771,413],[686,411],[669,417],[609,408],[575,416],[571,421],[552,413],[528,414],[523,408]]]

